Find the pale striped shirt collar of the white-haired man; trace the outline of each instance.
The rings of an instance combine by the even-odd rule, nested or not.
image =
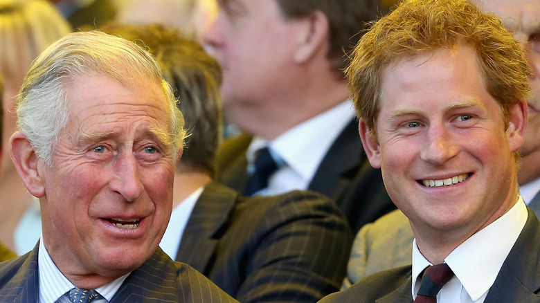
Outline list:
[[[55,303],[62,295],[75,287],[75,285],[69,282],[69,279],[60,272],[53,259],[51,259],[51,255],[48,254],[48,251],[45,248],[43,235],[39,240],[37,268],[39,273],[39,303]],[[102,295],[102,297],[105,297],[108,302],[116,294],[116,291],[118,291],[128,275],[129,273],[100,286],[96,288],[96,291]]]

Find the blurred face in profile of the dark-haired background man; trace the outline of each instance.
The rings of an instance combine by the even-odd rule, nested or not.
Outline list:
[[[276,0],[219,0],[204,41],[223,69],[225,114],[280,93],[294,62],[301,23],[285,19]],[[256,105],[255,105],[256,106]],[[228,117],[229,118],[229,117]]]

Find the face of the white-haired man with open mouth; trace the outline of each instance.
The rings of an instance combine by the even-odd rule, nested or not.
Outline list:
[[[44,244],[70,275],[118,277],[159,244],[172,209],[170,112],[159,84],[126,89],[103,75],[69,86],[69,122],[42,161]]]

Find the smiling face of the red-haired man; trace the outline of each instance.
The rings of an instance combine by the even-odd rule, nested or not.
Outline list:
[[[472,48],[392,62],[381,89],[378,142],[363,122],[361,136],[415,234],[452,230],[468,237],[510,209],[516,201],[512,152],[523,140],[516,125],[524,124],[525,104],[512,108],[505,130]]]

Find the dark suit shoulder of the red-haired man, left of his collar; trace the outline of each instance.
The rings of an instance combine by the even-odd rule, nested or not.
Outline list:
[[[410,265],[384,270],[360,279],[343,291],[327,295],[320,302],[375,302],[403,286],[410,277]]]

